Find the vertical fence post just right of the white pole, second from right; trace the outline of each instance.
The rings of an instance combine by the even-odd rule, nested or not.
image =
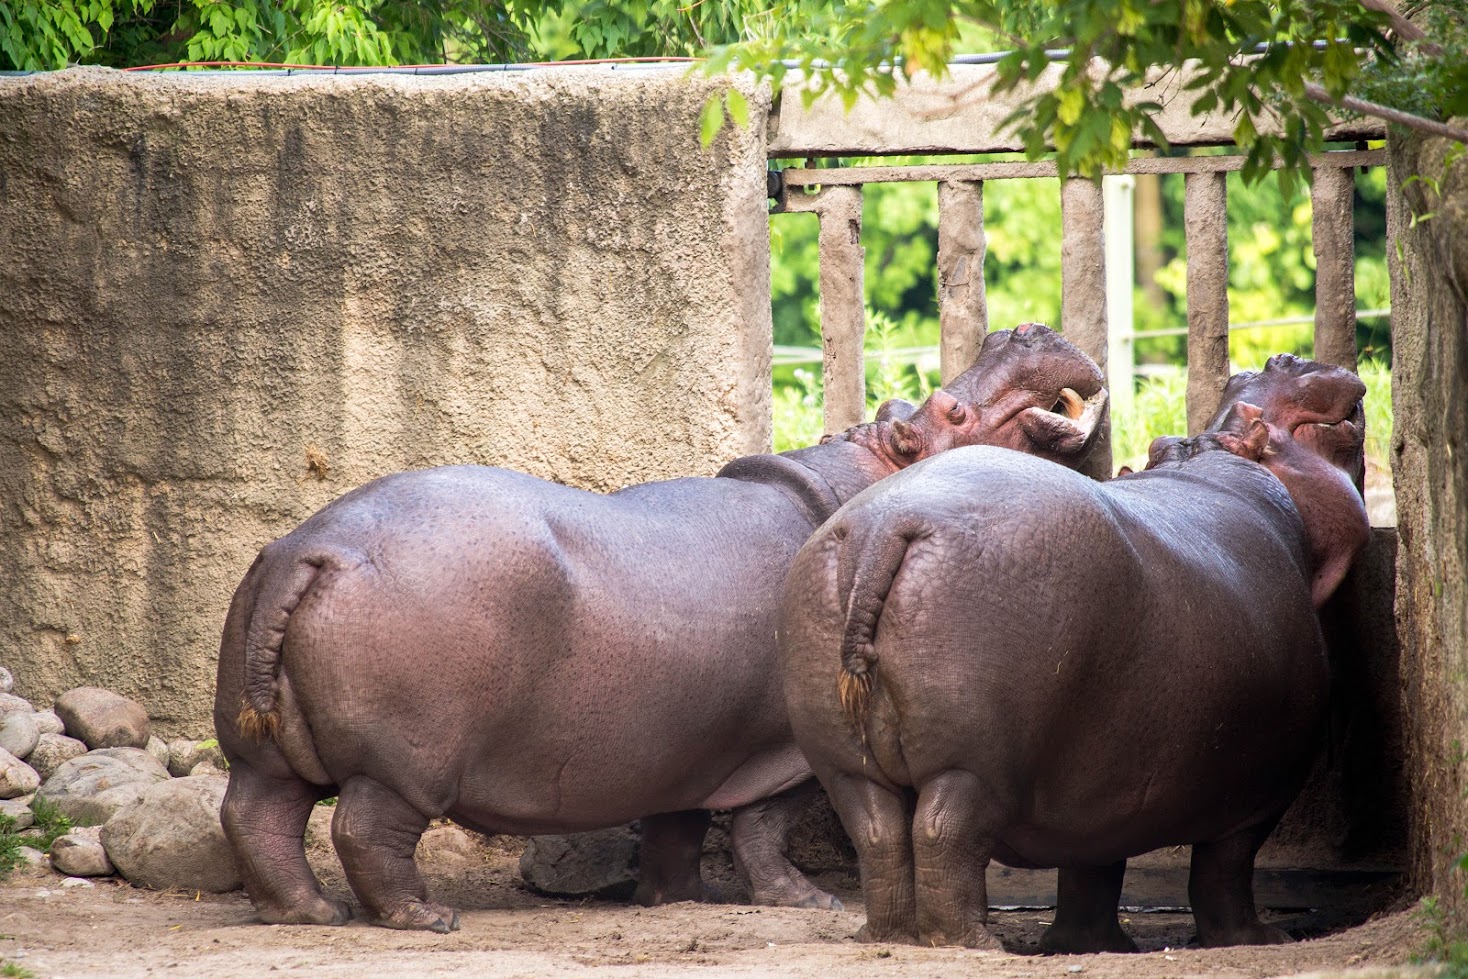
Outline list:
[[[1204,430],[1229,383],[1229,183],[1189,173],[1183,191],[1188,241],[1188,434]]]

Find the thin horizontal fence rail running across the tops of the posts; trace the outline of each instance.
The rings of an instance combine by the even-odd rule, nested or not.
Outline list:
[[[1135,157],[1123,173],[1227,173],[1243,169],[1239,154],[1217,157]],[[1309,166],[1358,167],[1386,166],[1386,150],[1333,150],[1309,156]],[[932,163],[922,166],[851,166],[834,169],[788,167],[780,172],[784,185],[856,186],[860,183],[903,183],[913,181],[1001,181],[1011,178],[1058,176],[1053,160],[1038,163]]]

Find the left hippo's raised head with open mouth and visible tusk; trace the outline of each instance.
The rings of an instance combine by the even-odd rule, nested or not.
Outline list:
[[[1105,412],[1095,363],[1039,323],[984,339],[973,367],[920,407],[888,401],[840,436],[906,467],[963,445],[997,445],[1069,467],[1085,461]]]

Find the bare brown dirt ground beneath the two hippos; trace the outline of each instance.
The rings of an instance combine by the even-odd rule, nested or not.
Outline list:
[[[349,897],[313,819],[310,856],[327,891]],[[1035,954],[1045,910],[994,911],[1004,953],[909,945],[859,945],[863,920],[857,879],[847,869],[818,882],[844,911],[672,904],[642,909],[622,901],[565,901],[521,884],[520,841],[482,838],[443,826],[430,831],[418,862],[436,900],[461,911],[452,935],[396,932],[352,922],[345,928],[260,925],[242,892],[156,892],[117,879],[63,885],[38,867],[0,885],[0,963],[35,976],[885,976],[1045,978],[1070,975],[1164,979],[1282,976],[1351,970],[1398,975],[1422,945],[1409,910],[1380,913],[1352,928],[1320,933],[1318,916],[1270,920],[1304,936],[1267,948],[1188,948],[1192,919],[1176,913],[1124,913],[1142,948],[1136,956]],[[727,857],[711,853],[706,876],[733,882]]]

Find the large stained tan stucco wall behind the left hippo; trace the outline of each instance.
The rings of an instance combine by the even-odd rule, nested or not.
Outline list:
[[[615,489],[763,451],[763,131],[700,148],[711,85],[0,79],[19,691],[101,684],[203,734],[235,584],[346,489],[462,461]]]

